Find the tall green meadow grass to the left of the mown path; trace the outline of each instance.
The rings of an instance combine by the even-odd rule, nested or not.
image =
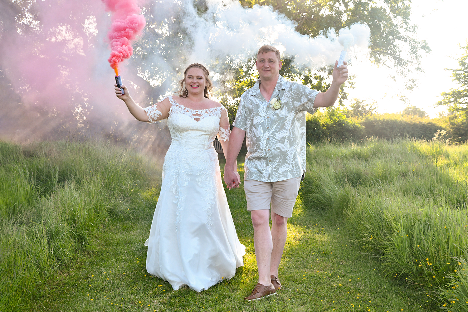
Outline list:
[[[28,305],[112,218],[131,215],[151,162],[99,143],[0,142],[0,311]]]

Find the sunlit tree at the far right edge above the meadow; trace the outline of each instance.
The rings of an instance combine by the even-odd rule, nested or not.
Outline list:
[[[461,47],[464,54],[458,59],[460,68],[447,69],[452,71],[453,81],[458,82],[458,87],[442,92],[442,100],[436,105],[448,107],[447,120],[452,129],[454,139],[468,140],[468,45]]]

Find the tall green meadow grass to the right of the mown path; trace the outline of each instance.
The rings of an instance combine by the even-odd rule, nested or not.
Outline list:
[[[465,259],[468,249],[467,145],[322,144],[309,148],[307,162],[302,196],[308,206],[336,210],[349,239],[380,259],[385,275],[441,307],[454,305],[446,290],[462,282],[453,276],[453,258]]]

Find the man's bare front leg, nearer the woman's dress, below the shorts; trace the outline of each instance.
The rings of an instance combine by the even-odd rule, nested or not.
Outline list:
[[[252,210],[254,247],[258,267],[258,283],[270,285],[270,262],[273,242],[270,230],[270,210]],[[278,268],[277,268],[278,270]]]

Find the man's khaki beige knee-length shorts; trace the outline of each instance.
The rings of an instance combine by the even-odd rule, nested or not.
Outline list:
[[[291,218],[300,181],[301,177],[276,182],[245,180],[247,210],[269,210],[271,203],[271,211],[282,217]]]

